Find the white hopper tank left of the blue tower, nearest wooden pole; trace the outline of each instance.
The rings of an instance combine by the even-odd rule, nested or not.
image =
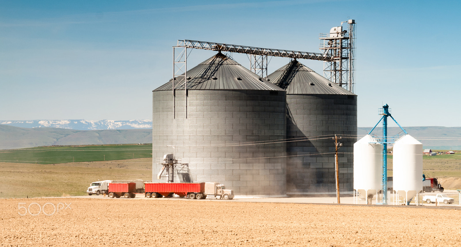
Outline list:
[[[383,145],[371,135],[365,135],[354,143],[355,202],[366,199],[371,203],[373,195],[381,189]]]

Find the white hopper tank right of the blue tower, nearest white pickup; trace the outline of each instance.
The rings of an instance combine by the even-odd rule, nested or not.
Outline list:
[[[394,191],[410,201],[423,188],[423,144],[411,135],[396,141],[393,150]]]

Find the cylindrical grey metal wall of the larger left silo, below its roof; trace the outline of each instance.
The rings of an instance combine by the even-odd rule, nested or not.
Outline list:
[[[184,91],[176,90],[173,118],[172,92],[154,91],[152,180],[156,158],[175,145],[194,182],[221,182],[237,195],[285,195],[286,143],[254,145],[286,138],[286,93],[276,92],[189,90],[185,118]]]

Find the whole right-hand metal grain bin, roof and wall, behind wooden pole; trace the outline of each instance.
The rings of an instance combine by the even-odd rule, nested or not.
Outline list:
[[[335,194],[335,135],[339,187],[353,193],[357,95],[296,60],[267,78],[287,91],[287,194]]]

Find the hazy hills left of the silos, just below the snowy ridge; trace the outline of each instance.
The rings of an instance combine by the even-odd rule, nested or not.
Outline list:
[[[0,149],[129,143],[152,143],[152,129],[26,129],[0,124]]]

